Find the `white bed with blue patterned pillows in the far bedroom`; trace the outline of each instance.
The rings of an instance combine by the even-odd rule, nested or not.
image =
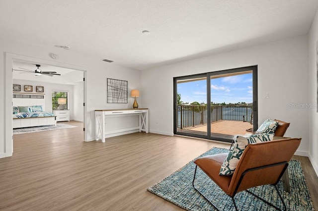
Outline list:
[[[13,94],[13,128],[56,125],[56,116],[45,111],[45,96],[38,94]]]

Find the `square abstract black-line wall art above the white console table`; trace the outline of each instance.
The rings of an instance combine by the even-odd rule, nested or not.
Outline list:
[[[107,78],[107,103],[128,103],[128,81]]]

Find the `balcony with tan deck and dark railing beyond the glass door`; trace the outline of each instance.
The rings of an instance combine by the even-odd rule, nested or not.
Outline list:
[[[206,135],[207,106],[178,106],[178,132]],[[246,134],[252,128],[252,106],[211,106],[212,134]]]

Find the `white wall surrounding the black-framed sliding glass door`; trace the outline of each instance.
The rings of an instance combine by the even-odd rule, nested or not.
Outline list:
[[[173,77],[258,65],[258,125],[267,118],[291,122],[286,136],[302,137],[297,154],[308,156],[308,109],[289,106],[309,103],[307,42],[299,36],[142,71],[150,132],[173,134]]]

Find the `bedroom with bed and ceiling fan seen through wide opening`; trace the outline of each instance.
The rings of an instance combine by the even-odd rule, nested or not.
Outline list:
[[[56,73],[36,75],[34,70],[37,68],[42,72]],[[13,128],[16,128],[13,134],[43,130],[41,127],[34,126],[46,126],[47,130],[51,130],[67,128],[67,125],[63,124],[65,121],[68,121],[70,125],[74,124],[74,120],[83,122],[82,72],[50,65],[36,67],[32,62],[15,61],[12,79],[13,111],[15,110]],[[52,108],[52,93],[64,93],[62,96],[64,99],[55,102],[60,104],[55,104],[54,108]],[[37,118],[37,116],[40,117]]]

